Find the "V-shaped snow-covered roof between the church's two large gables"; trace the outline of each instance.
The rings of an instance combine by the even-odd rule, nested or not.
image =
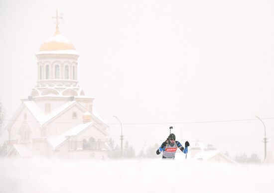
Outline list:
[[[53,117],[58,115],[63,110],[67,109],[69,106],[71,106],[75,102],[76,102],[75,100],[66,102],[65,104],[61,105],[60,107],[46,114],[40,109],[40,107],[33,100],[23,101],[25,106],[30,110],[30,112],[33,114],[33,116],[41,125],[51,120]]]

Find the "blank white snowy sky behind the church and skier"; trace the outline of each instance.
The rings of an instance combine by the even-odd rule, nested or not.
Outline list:
[[[272,0],[1,0],[0,100],[6,119],[30,95],[40,45],[60,32],[80,54],[78,80],[118,141],[137,148],[200,138],[221,151],[264,156],[259,120],[274,117]],[[274,119],[264,119],[274,151]],[[112,124],[115,123],[115,124]],[[229,139],[224,139],[229,138]],[[137,147],[137,145],[139,147]],[[156,150],[155,150],[156,151]]]

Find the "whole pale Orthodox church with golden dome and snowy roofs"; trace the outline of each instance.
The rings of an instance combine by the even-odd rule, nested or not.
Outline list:
[[[40,47],[37,83],[6,125],[6,157],[107,159],[108,125],[77,81],[78,53],[59,32]]]

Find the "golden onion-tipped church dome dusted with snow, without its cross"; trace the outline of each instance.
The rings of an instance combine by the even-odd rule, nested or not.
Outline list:
[[[39,52],[58,50],[75,50],[75,48],[67,38],[60,34],[59,29],[56,27],[54,35],[41,45]]]

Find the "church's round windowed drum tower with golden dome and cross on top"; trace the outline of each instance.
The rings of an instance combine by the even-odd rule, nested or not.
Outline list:
[[[40,46],[37,58],[37,84],[32,89],[31,96],[83,96],[77,80],[78,53],[70,41],[61,35],[59,20],[56,19],[56,29]]]

